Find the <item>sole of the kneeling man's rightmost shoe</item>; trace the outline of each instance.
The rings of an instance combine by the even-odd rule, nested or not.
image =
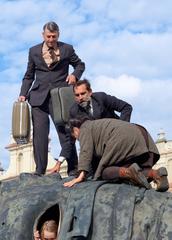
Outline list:
[[[169,183],[168,183],[168,172],[167,169],[165,167],[161,167],[158,169],[158,174],[161,177],[161,184],[158,187],[156,191],[157,192],[166,192],[169,189]]]

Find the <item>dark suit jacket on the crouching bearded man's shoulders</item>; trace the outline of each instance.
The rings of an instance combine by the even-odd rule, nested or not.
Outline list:
[[[127,102],[107,95],[104,92],[93,93],[91,100],[94,119],[116,118],[130,121],[132,106]],[[118,116],[115,111],[120,112],[120,116]],[[77,116],[84,117],[87,116],[87,113],[84,108],[74,103],[70,109],[70,118],[76,118]]]

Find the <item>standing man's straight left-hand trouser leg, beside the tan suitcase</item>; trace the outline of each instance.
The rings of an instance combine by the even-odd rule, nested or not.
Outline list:
[[[33,149],[36,173],[44,174],[48,162],[49,117],[39,107],[32,107]]]

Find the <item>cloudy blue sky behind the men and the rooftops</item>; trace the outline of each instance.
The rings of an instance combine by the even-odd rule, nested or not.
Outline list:
[[[172,139],[171,0],[1,0],[0,162],[9,164],[11,111],[26,70],[29,47],[42,41],[42,26],[55,21],[60,40],[73,44],[86,63],[83,77],[133,105],[131,122],[154,140]],[[54,128],[53,156],[59,154]]]

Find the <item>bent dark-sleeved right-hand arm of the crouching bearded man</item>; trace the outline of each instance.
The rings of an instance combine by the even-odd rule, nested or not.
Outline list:
[[[133,108],[129,103],[127,103],[115,96],[111,96],[111,95],[108,95],[105,93],[104,93],[103,97],[104,97],[104,103],[105,103],[107,110],[119,112],[120,113],[119,119],[130,122],[131,113],[132,113]]]

